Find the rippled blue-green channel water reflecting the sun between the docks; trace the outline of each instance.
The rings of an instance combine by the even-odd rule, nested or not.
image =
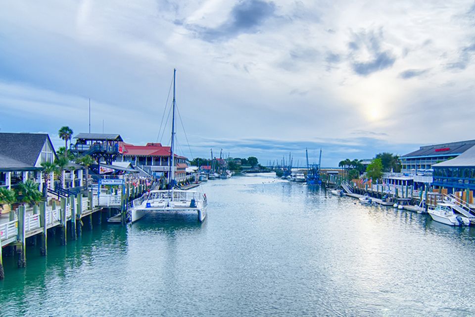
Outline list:
[[[209,181],[208,218],[83,231],[27,268],[0,316],[474,316],[475,228],[269,175]]]

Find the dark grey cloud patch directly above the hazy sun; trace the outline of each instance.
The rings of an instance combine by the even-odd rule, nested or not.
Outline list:
[[[381,50],[382,42],[381,29],[377,33],[361,31],[353,35],[353,40],[348,43],[348,48],[350,50],[351,66],[356,74],[368,76],[394,64],[396,57],[389,50]],[[365,55],[369,55],[369,57],[362,57]]]

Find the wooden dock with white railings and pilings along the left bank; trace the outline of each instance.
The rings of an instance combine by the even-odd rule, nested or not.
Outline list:
[[[3,215],[0,217],[0,247],[4,252],[0,252],[0,264],[3,253],[4,256],[16,255],[18,267],[25,267],[27,244],[40,244],[41,255],[46,256],[47,238],[51,234],[59,234],[60,244],[66,245],[68,239],[76,240],[82,235],[83,227],[92,229],[93,223],[100,224],[102,218],[125,223],[129,201],[142,196],[153,184],[140,181],[122,186],[122,191],[109,189],[99,193],[91,190],[50,199],[49,205],[44,201],[39,207],[19,206],[17,211],[10,211],[8,217]],[[0,274],[0,279],[3,277]]]

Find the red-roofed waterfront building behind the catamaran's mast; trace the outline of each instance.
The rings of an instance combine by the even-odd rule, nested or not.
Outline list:
[[[131,162],[134,166],[153,174],[155,177],[164,176],[168,178],[170,169],[170,147],[162,146],[160,143],[147,143],[146,145],[133,145],[121,142],[123,153],[121,161]],[[193,178],[187,175],[188,159],[174,154],[175,157],[175,180],[177,182]]]

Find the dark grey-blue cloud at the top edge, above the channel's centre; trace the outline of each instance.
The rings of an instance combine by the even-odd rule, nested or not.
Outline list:
[[[226,41],[243,33],[256,33],[258,26],[274,15],[276,5],[263,0],[243,0],[231,10],[227,21],[215,28],[190,24],[187,27],[207,42]]]

